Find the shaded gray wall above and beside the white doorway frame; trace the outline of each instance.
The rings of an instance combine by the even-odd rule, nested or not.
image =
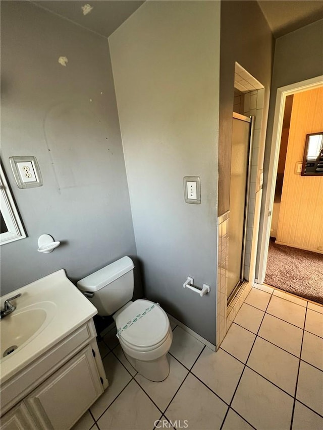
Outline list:
[[[266,147],[264,153],[263,196],[267,191],[268,168],[271,157],[277,88],[323,74],[323,20],[314,22],[276,40],[271,101],[268,113]],[[262,199],[260,232],[263,227],[265,199]],[[262,236],[259,235],[260,244]],[[257,267],[256,271],[258,270]],[[256,272],[257,273],[257,272]]]

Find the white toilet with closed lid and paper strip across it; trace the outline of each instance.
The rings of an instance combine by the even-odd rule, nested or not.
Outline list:
[[[117,337],[130,364],[150,381],[169,375],[167,353],[173,333],[166,312],[158,303],[132,301],[134,264],[123,257],[77,282],[79,290],[93,303],[98,315],[112,315]]]

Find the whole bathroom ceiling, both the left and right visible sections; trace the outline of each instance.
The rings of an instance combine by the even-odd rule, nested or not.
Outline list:
[[[109,37],[143,3],[139,0],[31,0],[101,36]],[[275,38],[323,18],[321,0],[257,0]],[[93,9],[83,15],[82,6]]]

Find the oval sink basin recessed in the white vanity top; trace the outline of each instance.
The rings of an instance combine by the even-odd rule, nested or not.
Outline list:
[[[50,321],[53,303],[43,302],[16,310],[0,321],[0,359],[9,357],[14,351],[36,336]],[[55,305],[54,305],[55,306]]]

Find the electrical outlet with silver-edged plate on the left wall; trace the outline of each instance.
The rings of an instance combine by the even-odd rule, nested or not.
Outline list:
[[[9,160],[19,188],[34,188],[43,185],[36,157],[22,155],[10,157]]]

